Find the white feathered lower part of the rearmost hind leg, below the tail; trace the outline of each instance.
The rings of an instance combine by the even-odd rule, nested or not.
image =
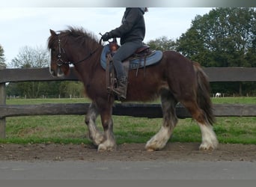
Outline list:
[[[213,131],[213,126],[198,123],[201,129],[202,143],[199,147],[200,150],[214,150],[218,147],[218,140]]]

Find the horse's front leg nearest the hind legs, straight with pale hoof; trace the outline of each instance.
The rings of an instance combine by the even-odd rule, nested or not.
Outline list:
[[[101,123],[104,129],[104,141],[99,144],[98,151],[116,150],[117,144],[113,132],[112,104],[106,103],[100,111]]]

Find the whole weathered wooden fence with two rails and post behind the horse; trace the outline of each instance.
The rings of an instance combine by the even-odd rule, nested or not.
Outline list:
[[[210,67],[204,68],[210,82],[256,82],[256,68],[243,67]],[[64,79],[54,78],[49,74],[49,68],[31,69],[5,69],[0,66],[0,138],[5,137],[5,117],[26,115],[57,115],[57,114],[86,114],[89,103],[76,104],[40,104],[40,105],[6,105],[6,82],[26,81],[77,81],[78,76],[71,68],[70,76]],[[227,116],[256,116],[256,105],[218,104],[213,105],[217,117]],[[191,117],[186,108],[177,105],[177,116]],[[162,117],[159,104],[116,104],[114,115],[127,115],[133,117]]]

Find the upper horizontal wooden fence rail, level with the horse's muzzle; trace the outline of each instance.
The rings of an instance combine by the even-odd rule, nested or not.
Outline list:
[[[255,82],[256,67],[207,67],[203,68],[210,82]],[[50,75],[49,68],[0,70],[0,83],[25,81],[77,81],[79,76],[73,67],[70,75],[60,79]]]

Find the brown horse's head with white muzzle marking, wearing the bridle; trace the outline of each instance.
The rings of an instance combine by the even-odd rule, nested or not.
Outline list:
[[[61,34],[56,34],[50,30],[51,36],[48,40],[49,49],[49,70],[52,76],[63,77],[70,72],[70,61],[65,52],[64,42],[61,40]]]

